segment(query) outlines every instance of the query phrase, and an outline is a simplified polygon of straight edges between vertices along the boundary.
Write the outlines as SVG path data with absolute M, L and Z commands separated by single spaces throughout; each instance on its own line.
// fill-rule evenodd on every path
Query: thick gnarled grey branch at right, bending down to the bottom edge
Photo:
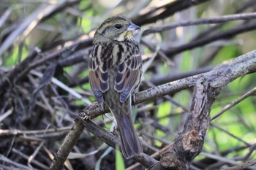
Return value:
M 210 121 L 211 105 L 219 91 L 229 82 L 256 71 L 256 51 L 242 55 L 229 63 L 217 66 L 197 80 L 192 104 L 184 130 L 176 137 L 173 147 L 167 150 L 151 170 L 188 169 L 203 148 L 203 139 Z

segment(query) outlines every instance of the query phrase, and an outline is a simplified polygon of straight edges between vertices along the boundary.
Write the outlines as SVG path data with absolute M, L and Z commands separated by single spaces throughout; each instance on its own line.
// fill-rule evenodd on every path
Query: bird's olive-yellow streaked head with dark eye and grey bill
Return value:
M 132 31 L 140 28 L 132 23 L 128 18 L 115 16 L 105 20 L 97 29 L 94 39 L 105 41 L 108 39 L 118 42 L 131 41 L 133 39 Z

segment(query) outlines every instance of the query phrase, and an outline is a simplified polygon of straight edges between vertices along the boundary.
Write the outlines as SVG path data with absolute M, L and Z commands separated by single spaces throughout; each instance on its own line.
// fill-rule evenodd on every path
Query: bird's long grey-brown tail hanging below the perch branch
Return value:
M 124 158 L 132 158 L 143 152 L 138 135 L 132 123 L 130 114 L 123 113 L 116 117 L 121 137 L 121 150 Z

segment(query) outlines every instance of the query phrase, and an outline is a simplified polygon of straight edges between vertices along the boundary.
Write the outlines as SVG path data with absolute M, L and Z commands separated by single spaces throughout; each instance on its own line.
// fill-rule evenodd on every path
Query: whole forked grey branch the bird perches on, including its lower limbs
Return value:
M 219 91 L 229 82 L 252 72 L 256 72 L 256 50 L 241 55 L 233 61 L 221 64 L 205 74 L 187 77 L 136 93 L 134 104 L 150 101 L 195 85 L 194 96 L 184 130 L 176 137 L 173 147 L 168 149 L 157 163 L 150 159 L 148 161 L 147 156 L 143 157 L 145 160 L 140 161 L 140 163 L 143 163 L 146 167 L 151 166 L 149 169 L 187 169 L 203 148 L 204 136 L 210 121 L 211 105 L 214 103 Z M 64 139 L 50 169 L 61 169 L 84 126 L 89 128 L 95 136 L 110 144 L 110 146 L 113 147 L 114 143 L 118 143 L 115 136 L 105 133 L 103 128 L 88 120 L 88 118 L 97 117 L 107 111 L 106 107 L 99 107 L 98 104 L 94 103 L 83 109 L 83 112 L 80 112 L 80 117 L 84 119 L 83 123 L 80 119 L 75 120 L 72 130 Z M 140 156 L 138 158 L 141 158 Z M 138 158 L 136 157 L 135 159 Z

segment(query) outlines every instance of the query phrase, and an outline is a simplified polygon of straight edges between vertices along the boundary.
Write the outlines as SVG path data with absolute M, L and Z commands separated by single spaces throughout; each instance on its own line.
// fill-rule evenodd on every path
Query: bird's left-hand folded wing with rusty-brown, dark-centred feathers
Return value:
M 108 69 L 107 63 L 99 64 L 97 53 L 95 55 L 94 49 L 89 58 L 89 82 L 91 90 L 94 92 L 94 96 L 99 104 L 103 104 L 103 93 L 109 89 L 108 83 Z

